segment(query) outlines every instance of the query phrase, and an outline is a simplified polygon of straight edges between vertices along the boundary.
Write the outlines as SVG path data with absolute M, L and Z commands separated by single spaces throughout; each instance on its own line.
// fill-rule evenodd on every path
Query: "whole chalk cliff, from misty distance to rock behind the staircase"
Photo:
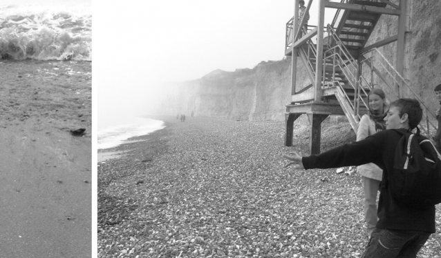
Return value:
M 441 1 L 409 2 L 404 79 L 426 105 L 435 110 L 438 101 L 433 88 L 441 83 Z M 366 46 L 395 34 L 397 17 L 383 15 Z M 393 66 L 396 46 L 394 42 L 379 48 Z M 303 64 L 298 60 L 297 90 L 309 84 Z M 187 117 L 194 112 L 196 116 L 237 120 L 284 119 L 285 106 L 290 103 L 290 85 L 290 57 L 262 61 L 252 69 L 214 70 L 193 81 L 168 83 L 164 86 L 167 94 L 160 97 L 160 104 L 155 103 L 149 110 L 160 115 L 185 114 Z

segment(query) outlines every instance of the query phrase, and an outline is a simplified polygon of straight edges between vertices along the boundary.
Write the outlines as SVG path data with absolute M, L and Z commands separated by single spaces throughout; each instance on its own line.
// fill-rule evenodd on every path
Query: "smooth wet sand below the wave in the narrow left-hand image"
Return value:
M 91 257 L 91 62 L 0 60 L 0 81 L 0 257 Z

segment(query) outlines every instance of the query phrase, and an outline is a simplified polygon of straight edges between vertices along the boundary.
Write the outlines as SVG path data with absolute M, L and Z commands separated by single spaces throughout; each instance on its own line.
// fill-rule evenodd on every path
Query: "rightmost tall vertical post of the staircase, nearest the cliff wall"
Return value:
M 400 10 L 401 15 L 398 17 L 398 39 L 397 39 L 397 59 L 395 63 L 395 67 L 397 69 L 398 74 L 403 76 L 403 68 L 404 68 L 404 43 L 406 37 L 406 13 L 407 13 L 407 0 L 400 0 Z M 397 81 L 400 81 L 400 77 L 397 76 L 395 78 Z M 400 86 L 396 86 L 398 97 L 402 97 L 402 92 L 400 91 Z

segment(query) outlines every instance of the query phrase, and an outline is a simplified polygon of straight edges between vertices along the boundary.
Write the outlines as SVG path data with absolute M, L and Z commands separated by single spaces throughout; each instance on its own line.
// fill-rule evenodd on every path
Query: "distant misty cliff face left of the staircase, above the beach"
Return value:
M 301 63 L 298 65 L 302 71 Z M 299 74 L 299 89 L 310 84 Z M 156 114 L 194 114 L 235 120 L 283 120 L 290 103 L 291 59 L 261 62 L 253 69 L 216 70 L 203 78 L 168 86 Z

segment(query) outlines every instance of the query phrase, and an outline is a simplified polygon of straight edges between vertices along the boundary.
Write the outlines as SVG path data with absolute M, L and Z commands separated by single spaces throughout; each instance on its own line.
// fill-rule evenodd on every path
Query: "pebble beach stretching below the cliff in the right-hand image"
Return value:
M 283 168 L 283 154 L 308 153 L 306 117 L 294 147 L 284 121 L 152 118 L 167 127 L 98 163 L 99 257 L 361 255 L 361 178 Z M 355 141 L 348 123 L 323 121 L 322 135 L 322 151 Z M 440 243 L 437 232 L 418 257 L 439 257 Z

